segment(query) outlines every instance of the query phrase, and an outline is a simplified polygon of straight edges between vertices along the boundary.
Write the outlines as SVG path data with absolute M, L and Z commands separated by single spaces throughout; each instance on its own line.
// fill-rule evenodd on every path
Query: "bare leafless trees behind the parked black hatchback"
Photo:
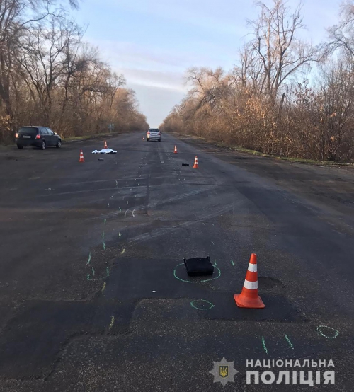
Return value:
M 83 38 L 67 4 L 0 1 L 0 143 L 23 125 L 63 137 L 148 127 L 124 76 Z

